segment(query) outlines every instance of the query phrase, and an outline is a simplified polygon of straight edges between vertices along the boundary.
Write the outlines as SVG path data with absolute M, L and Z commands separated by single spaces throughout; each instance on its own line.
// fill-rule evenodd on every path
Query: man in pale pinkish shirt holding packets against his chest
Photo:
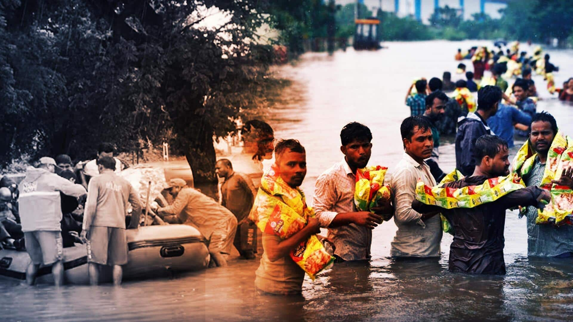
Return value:
M 372 229 L 382 223 L 383 217 L 379 214 L 390 212 L 390 205 L 376 209 L 379 214 L 356 211 L 356 170 L 366 167 L 370 160 L 372 133 L 366 125 L 352 122 L 344 125 L 340 140 L 344 159 L 316 179 L 316 218 L 321 227 L 328 228 L 328 238 L 335 245 L 336 262 L 368 260 Z

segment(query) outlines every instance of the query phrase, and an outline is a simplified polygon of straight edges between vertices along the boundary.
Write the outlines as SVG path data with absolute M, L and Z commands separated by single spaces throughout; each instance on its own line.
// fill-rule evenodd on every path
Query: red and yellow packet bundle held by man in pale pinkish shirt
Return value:
M 387 167 L 374 166 L 356 171 L 354 190 L 356 209 L 374 213 L 372 207 L 376 207 L 379 201 L 390 200 L 390 189 L 384 186 L 384 176 L 387 170 Z

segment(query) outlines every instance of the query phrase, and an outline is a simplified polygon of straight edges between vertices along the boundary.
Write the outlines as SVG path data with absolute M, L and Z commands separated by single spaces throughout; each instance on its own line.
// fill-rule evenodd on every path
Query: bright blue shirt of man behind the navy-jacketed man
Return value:
M 515 107 L 500 104 L 496 115 L 490 116 L 488 125 L 497 136 L 507 142 L 508 147 L 513 147 L 513 124 L 531 124 L 531 116 Z

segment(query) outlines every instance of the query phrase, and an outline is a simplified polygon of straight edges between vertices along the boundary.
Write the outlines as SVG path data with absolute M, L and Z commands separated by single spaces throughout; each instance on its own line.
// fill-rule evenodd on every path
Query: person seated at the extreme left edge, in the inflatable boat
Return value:
M 24 233 L 16 222 L 10 201 L 12 193 L 7 187 L 0 188 L 0 242 L 8 249 L 23 249 Z

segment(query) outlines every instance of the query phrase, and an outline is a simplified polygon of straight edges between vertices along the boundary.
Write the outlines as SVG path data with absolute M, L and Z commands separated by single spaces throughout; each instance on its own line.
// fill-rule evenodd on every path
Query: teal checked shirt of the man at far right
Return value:
M 543 172 L 545 172 L 545 164 L 536 159 L 531 172 L 523 178 L 525 184 L 528 187 L 539 186 Z M 528 256 L 553 257 L 573 252 L 573 226 L 536 225 L 537 209 L 535 207 L 527 207 L 525 216 L 527 216 Z

